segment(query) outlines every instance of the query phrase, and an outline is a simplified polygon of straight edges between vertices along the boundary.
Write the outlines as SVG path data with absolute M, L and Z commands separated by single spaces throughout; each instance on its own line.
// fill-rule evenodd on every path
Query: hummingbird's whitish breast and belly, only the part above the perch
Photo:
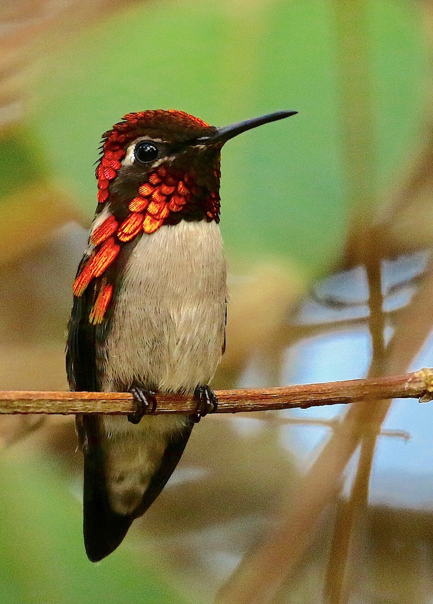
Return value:
M 133 382 L 191 392 L 221 359 L 226 265 L 215 222 L 162 226 L 128 259 L 100 367 L 102 390 Z

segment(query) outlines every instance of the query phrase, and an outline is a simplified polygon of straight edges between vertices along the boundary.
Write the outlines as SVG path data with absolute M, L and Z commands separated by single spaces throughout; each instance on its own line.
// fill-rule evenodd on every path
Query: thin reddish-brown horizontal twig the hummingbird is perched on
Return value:
M 264 411 L 354 403 L 377 399 L 433 400 L 433 369 L 390 377 L 368 377 L 344 382 L 308 384 L 285 388 L 217 390 L 218 413 Z M 194 413 L 192 396 L 158 394 L 155 413 Z M 130 393 L 0 391 L 0 414 L 73 413 L 128 414 L 135 410 Z

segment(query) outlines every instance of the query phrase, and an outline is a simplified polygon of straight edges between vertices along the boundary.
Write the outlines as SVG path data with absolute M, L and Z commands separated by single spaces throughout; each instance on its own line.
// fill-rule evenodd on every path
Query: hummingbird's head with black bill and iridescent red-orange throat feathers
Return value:
M 74 283 L 80 297 L 98 280 L 90 323 L 103 321 L 113 294 L 106 271 L 122 246 L 182 219 L 219 222 L 221 147 L 245 130 L 294 114 L 279 111 L 217 128 L 183 111 L 156 109 L 127 114 L 104 133 L 91 247 Z

